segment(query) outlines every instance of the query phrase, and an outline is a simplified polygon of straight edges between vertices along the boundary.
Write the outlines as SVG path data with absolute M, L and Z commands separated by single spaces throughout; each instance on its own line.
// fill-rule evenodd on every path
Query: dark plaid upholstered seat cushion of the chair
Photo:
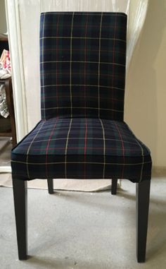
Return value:
M 11 153 L 13 179 L 151 179 L 151 154 L 124 121 L 47 119 Z

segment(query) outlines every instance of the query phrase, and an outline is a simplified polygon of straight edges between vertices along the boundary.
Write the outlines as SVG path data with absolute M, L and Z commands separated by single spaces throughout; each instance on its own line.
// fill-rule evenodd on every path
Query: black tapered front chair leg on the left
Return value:
M 18 258 L 27 259 L 27 181 L 13 179 Z

